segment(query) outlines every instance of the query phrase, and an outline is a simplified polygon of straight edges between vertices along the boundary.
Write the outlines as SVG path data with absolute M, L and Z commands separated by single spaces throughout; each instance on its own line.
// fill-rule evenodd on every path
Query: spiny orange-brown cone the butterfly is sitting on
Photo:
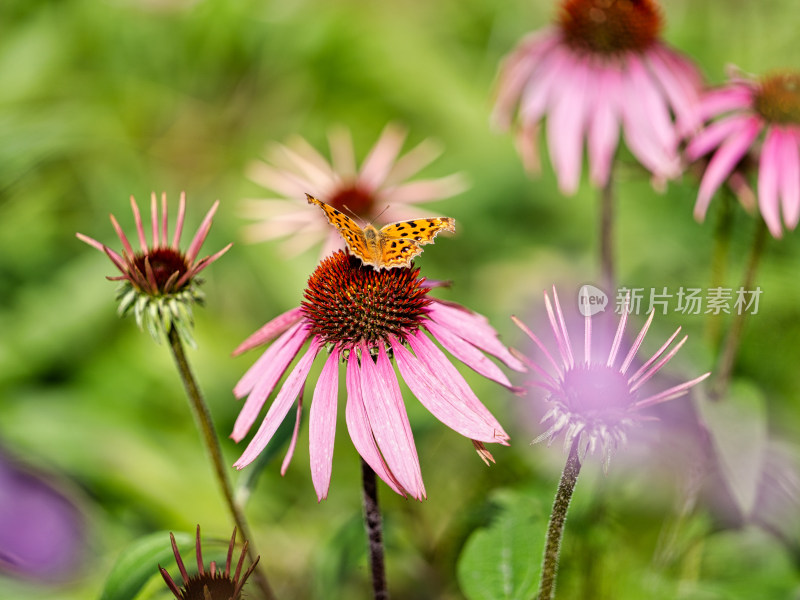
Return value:
M 366 341 L 404 340 L 416 331 L 431 299 L 419 269 L 376 271 L 343 251 L 324 259 L 308 280 L 303 311 L 325 343 L 352 348 Z

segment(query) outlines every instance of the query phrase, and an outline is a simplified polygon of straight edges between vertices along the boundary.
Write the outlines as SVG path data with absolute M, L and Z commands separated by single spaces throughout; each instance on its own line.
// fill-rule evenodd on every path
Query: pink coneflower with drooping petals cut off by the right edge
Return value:
M 800 73 L 759 81 L 737 75 L 702 98 L 697 118 L 714 120 L 686 148 L 690 160 L 713 152 L 695 218 L 705 218 L 717 188 L 751 152 L 758 157 L 758 206 L 770 232 L 781 237 L 781 215 L 794 229 L 800 219 Z

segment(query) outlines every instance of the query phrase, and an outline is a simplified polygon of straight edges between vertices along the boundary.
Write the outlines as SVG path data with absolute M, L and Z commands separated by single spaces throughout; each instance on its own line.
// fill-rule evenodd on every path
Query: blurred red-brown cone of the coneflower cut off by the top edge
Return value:
M 647 50 L 662 28 L 652 0 L 566 0 L 558 22 L 574 49 L 608 55 Z

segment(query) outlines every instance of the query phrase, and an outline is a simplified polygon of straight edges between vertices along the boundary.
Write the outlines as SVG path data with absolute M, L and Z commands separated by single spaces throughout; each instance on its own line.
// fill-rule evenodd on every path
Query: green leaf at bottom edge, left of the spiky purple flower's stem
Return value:
M 473 532 L 458 561 L 469 600 L 530 600 L 539 587 L 548 508 L 535 495 L 504 492 L 488 527 Z

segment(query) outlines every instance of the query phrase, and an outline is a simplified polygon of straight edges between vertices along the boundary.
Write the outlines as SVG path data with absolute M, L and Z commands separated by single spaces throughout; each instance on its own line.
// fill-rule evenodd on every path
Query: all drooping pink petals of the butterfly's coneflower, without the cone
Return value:
M 340 361 L 346 363 L 345 421 L 353 445 L 398 494 L 422 499 L 425 486 L 390 353 L 403 381 L 437 419 L 473 440 L 479 451 L 484 442 L 508 444 L 506 432 L 426 332 L 464 364 L 508 388 L 513 389 L 508 378 L 483 353 L 499 358 L 512 369 L 524 367 L 499 342 L 485 317 L 437 300 L 428 307 L 428 317 L 407 335 L 405 343 L 393 336 L 385 343 L 335 346 L 325 359 L 314 385 L 309 418 L 311 476 L 319 500 L 327 497 L 330 487 Z M 237 442 L 247 435 L 290 363 L 300 355 L 255 436 L 236 461 L 237 468 L 245 467 L 261 453 L 297 401 L 295 431 L 282 472 L 288 467 L 297 441 L 303 388 L 314 359 L 323 349 L 322 341 L 310 328 L 303 309 L 295 308 L 267 323 L 236 349 L 238 354 L 272 342 L 234 388 L 237 398 L 247 397 L 231 435 Z M 301 353 L 306 342 L 308 348 Z

